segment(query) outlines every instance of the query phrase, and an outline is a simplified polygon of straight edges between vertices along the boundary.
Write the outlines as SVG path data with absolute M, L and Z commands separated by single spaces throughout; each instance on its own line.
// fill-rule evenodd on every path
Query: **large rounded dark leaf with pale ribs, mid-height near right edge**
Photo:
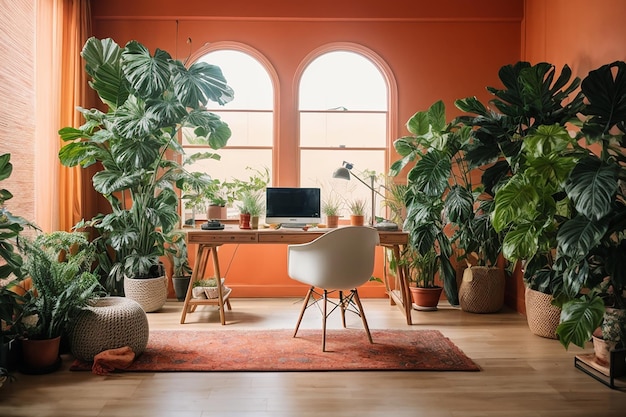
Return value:
M 576 210 L 599 220 L 612 208 L 618 187 L 619 166 L 605 163 L 596 156 L 578 162 L 565 184 L 565 191 Z

